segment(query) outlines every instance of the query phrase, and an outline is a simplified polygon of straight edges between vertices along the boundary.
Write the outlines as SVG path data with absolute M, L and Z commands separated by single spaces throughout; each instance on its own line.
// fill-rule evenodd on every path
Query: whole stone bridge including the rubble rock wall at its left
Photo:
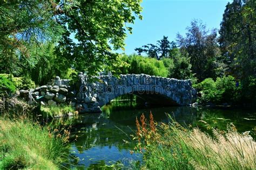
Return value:
M 196 97 L 190 80 L 126 74 L 95 76 L 89 82 L 83 73 L 78 74 L 78 79 L 70 86 L 69 80 L 57 76 L 53 86 L 33 89 L 32 96 L 43 98 L 41 103 L 49 105 L 66 102 L 81 112 L 100 112 L 103 105 L 124 94 L 134 94 L 148 104 L 157 105 L 188 105 Z

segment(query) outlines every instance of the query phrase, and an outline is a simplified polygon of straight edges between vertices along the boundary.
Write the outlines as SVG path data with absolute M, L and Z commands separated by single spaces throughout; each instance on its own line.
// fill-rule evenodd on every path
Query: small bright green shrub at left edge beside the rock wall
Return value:
M 9 95 L 16 90 L 15 83 L 12 81 L 12 77 L 6 74 L 0 74 L 0 94 Z

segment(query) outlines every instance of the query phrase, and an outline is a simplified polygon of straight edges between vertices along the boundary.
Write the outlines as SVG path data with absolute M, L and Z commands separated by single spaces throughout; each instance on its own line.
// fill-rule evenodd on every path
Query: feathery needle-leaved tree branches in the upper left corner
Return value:
M 58 40 L 62 26 L 56 23 L 54 13 L 50 1 L 0 2 L 1 73 L 21 74 L 23 66 L 33 65 L 31 48 Z

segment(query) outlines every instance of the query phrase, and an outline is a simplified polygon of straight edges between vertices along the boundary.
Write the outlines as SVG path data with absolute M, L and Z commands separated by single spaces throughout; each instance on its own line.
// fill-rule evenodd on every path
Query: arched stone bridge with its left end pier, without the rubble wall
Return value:
M 177 80 L 145 74 L 99 76 L 89 83 L 86 76 L 78 75 L 77 104 L 83 112 L 100 111 L 100 107 L 124 94 L 134 94 L 150 104 L 188 105 L 196 95 L 190 80 Z

